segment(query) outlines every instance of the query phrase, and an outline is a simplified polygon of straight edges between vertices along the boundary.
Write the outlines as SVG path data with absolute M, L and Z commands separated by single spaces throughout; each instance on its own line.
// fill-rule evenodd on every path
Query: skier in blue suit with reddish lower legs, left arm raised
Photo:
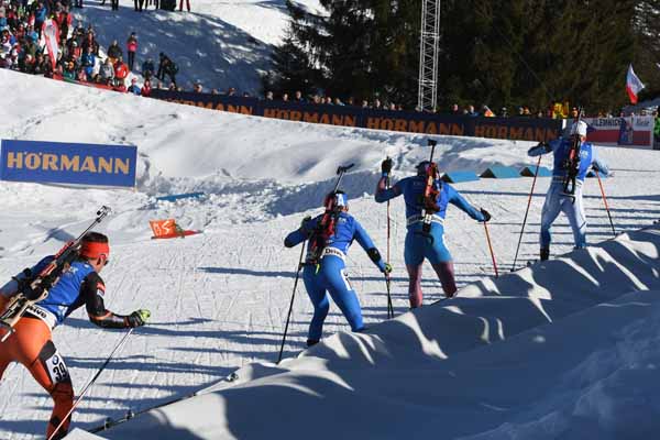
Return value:
M 387 177 L 392 170 L 392 160 L 383 161 L 381 165 L 383 176 L 378 180 L 375 195 L 378 204 L 400 195 L 404 196 L 406 201 L 408 231 L 406 233 L 404 258 L 409 278 L 408 297 L 410 308 L 417 308 L 422 302 L 421 266 L 425 258 L 428 258 L 438 278 L 440 278 L 444 295 L 452 297 L 457 293 L 453 261 L 443 239 L 444 216 L 447 215 L 448 205 L 452 204 L 459 207 L 474 220 L 488 221 L 491 219 L 491 215 L 486 210 L 477 210 L 453 187 L 438 178 L 433 180 L 433 187 L 439 191 L 436 199 L 437 212 L 432 215 L 429 233 L 425 233 L 422 231 L 424 194 L 427 186 L 427 169 L 430 164 L 429 161 L 421 162 L 417 166 L 416 176 L 406 177 L 397 182 L 392 188 L 386 188 Z

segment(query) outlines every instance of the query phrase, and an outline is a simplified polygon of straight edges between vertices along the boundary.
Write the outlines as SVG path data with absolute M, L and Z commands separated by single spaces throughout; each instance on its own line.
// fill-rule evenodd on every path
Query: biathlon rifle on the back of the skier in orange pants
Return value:
M 48 290 L 57 284 L 61 275 L 78 256 L 82 237 L 95 226 L 100 223 L 110 213 L 110 208 L 103 206 L 97 211 L 92 223 L 74 241 L 66 243 L 56 254 L 54 260 L 46 265 L 35 277 L 21 280 L 19 292 L 10 299 L 7 309 L 0 315 L 0 328 L 7 329 L 7 333 L 0 342 L 4 342 L 14 332 L 14 326 L 25 310 L 33 304 L 46 299 Z

